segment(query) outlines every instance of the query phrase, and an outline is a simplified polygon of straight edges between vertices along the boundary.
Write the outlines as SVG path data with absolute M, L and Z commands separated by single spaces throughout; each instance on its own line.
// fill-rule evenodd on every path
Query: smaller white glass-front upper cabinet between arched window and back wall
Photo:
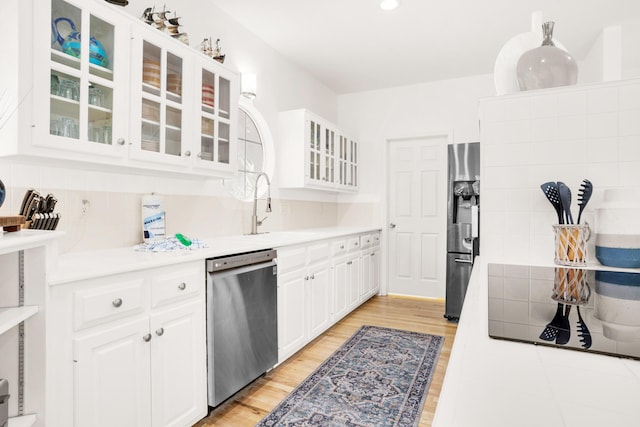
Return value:
M 357 143 L 307 110 L 279 114 L 279 183 L 284 188 L 355 191 Z

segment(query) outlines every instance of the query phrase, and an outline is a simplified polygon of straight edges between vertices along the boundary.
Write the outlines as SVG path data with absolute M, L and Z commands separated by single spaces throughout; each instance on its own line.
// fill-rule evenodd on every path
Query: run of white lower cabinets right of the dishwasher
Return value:
M 280 363 L 378 293 L 379 233 L 366 237 L 278 248 Z

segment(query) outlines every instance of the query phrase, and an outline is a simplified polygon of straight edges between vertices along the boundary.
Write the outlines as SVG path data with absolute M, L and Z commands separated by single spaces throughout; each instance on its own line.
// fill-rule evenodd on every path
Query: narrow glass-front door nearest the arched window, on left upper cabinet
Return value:
M 194 164 L 231 175 L 237 169 L 237 78 L 213 59 L 196 61 L 194 92 L 200 132 L 194 138 Z

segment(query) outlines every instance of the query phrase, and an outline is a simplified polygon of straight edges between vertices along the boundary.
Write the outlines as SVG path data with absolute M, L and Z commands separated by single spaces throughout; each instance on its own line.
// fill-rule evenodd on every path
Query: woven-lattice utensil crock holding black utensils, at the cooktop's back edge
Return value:
M 558 265 L 585 265 L 587 263 L 587 241 L 591 237 L 589 224 L 556 224 L 555 263 Z

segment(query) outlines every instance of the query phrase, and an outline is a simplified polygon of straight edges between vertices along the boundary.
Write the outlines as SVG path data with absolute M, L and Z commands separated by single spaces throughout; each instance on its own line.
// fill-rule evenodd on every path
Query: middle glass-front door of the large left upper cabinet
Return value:
M 152 28 L 134 34 L 131 157 L 187 165 L 191 156 L 189 52 Z

